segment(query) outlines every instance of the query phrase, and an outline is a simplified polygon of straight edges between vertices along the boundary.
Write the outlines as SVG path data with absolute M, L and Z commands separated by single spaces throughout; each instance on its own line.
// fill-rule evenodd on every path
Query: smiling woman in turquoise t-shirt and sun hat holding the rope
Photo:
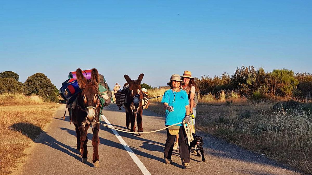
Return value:
M 183 80 L 181 80 L 180 75 L 173 74 L 168 83 L 171 88 L 163 94 L 161 102 L 166 109 L 166 126 L 182 122 L 183 120 L 188 123 L 190 120 L 188 94 L 181 89 L 181 82 L 183 82 Z M 173 152 L 173 143 L 177 134 L 179 135 L 179 152 L 183 168 L 190 169 L 190 152 L 188 150 L 186 134 L 182 124 L 167 129 L 167 140 L 163 153 L 164 161 L 167 164 L 172 164 L 171 156 Z

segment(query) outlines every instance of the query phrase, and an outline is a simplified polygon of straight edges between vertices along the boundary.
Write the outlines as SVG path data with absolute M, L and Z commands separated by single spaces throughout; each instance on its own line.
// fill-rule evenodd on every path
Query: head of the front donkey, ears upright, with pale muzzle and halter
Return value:
M 79 87 L 81 89 L 81 96 L 78 99 L 79 104 L 82 107 L 85 107 L 87 112 L 86 119 L 89 121 L 93 121 L 99 112 L 100 107 L 100 99 L 98 97 L 99 92 L 99 73 L 93 68 L 91 71 L 91 79 L 87 80 L 83 74 L 81 69 L 76 70 L 77 81 Z

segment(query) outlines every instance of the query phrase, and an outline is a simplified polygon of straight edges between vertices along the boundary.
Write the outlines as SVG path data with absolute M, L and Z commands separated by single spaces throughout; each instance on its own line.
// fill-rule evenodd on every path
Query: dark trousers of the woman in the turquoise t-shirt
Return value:
M 176 137 L 175 135 L 171 135 L 169 133 L 168 128 L 167 128 L 167 140 L 165 143 L 165 150 L 163 153 L 163 156 L 165 158 L 171 159 L 175 137 Z M 179 142 L 179 152 L 180 152 L 181 160 L 184 158 L 185 163 L 190 163 L 190 152 L 188 151 L 188 145 L 187 145 L 187 140 L 185 138 L 185 131 L 184 131 L 183 126 L 180 126 L 180 129 L 179 129 L 178 142 Z

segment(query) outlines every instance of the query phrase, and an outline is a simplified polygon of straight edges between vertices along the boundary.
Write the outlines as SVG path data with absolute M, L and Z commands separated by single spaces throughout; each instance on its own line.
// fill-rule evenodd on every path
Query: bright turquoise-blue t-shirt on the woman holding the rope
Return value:
M 175 94 L 175 102 L 173 102 Z M 173 106 L 173 112 L 169 112 L 166 110 L 166 122 L 165 125 L 173 125 L 182 120 L 185 117 L 185 106 L 188 106 L 188 94 L 181 90 L 180 92 L 173 92 L 171 89 L 167 90 L 163 94 L 163 99 L 161 100 L 162 103 L 168 103 L 169 106 Z M 182 126 L 179 124 L 178 126 Z

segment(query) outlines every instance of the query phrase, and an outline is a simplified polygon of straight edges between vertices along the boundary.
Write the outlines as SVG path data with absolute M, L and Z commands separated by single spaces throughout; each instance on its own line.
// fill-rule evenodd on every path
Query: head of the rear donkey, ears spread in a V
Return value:
M 143 79 L 144 74 L 141 73 L 137 80 L 131 80 L 128 75 L 124 75 L 127 83 L 129 84 L 129 95 L 133 99 L 134 107 L 139 107 L 140 97 L 143 96 L 141 92 L 141 81 Z

